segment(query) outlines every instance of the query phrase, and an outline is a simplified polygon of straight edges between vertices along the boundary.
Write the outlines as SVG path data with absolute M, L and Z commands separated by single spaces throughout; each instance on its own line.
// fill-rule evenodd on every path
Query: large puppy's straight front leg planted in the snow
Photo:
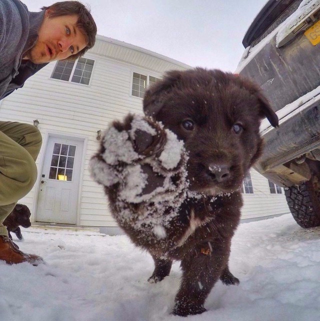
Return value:
M 204 301 L 227 263 L 227 258 L 223 255 L 202 252 L 201 249 L 196 254 L 193 253 L 181 261 L 181 286 L 175 296 L 173 308 L 173 314 L 180 316 L 206 311 Z

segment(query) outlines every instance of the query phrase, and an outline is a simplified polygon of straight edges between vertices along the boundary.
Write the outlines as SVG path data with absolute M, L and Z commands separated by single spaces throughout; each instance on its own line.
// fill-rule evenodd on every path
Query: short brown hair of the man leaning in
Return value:
M 90 10 L 87 9 L 84 5 L 82 5 L 78 1 L 63 1 L 57 2 L 49 7 L 42 7 L 41 10 L 48 10 L 48 17 L 54 18 L 59 16 L 69 16 L 76 15 L 78 16 L 78 20 L 76 22 L 76 28 L 83 34 L 86 47 L 80 50 L 75 55 L 68 57 L 65 60 L 74 61 L 77 58 L 84 55 L 84 53 L 93 47 L 96 36 L 96 25 L 90 14 Z

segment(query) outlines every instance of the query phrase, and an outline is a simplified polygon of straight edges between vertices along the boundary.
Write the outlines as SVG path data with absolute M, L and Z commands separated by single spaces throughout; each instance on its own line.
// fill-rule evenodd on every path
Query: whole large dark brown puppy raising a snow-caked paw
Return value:
M 105 132 L 92 177 L 119 226 L 152 255 L 150 282 L 181 261 L 173 313 L 201 313 L 218 279 L 239 282 L 228 259 L 242 180 L 262 151 L 261 119 L 277 126 L 277 117 L 250 81 L 200 68 L 168 72 L 147 90 L 143 110 Z

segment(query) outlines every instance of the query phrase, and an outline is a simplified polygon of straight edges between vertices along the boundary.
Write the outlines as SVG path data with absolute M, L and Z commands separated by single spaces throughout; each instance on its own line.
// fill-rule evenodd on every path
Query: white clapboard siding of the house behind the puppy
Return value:
M 91 156 L 98 148 L 96 131 L 104 130 L 127 113 L 142 113 L 142 99 L 131 96 L 132 73 L 160 78 L 165 71 L 189 66 L 110 38 L 98 36 L 85 58 L 94 60 L 89 86 L 51 79 L 55 63 L 47 65 L 19 89 L 0 101 L 0 119 L 32 124 L 39 121 L 43 146 L 37 159 L 41 172 L 48 135 L 63 134 L 84 140 L 83 172 L 79 186 L 77 224 L 116 227 L 106 196 L 88 171 Z M 251 173 L 254 194 L 244 194 L 243 218 L 287 212 L 283 194 L 271 195 L 267 180 Z M 258 176 L 259 175 L 259 176 Z M 32 190 L 20 202 L 29 206 L 34 220 L 40 174 Z

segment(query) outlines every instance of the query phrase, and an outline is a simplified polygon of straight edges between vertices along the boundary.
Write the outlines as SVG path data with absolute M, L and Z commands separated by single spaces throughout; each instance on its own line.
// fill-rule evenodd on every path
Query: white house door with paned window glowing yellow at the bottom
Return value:
M 83 141 L 49 137 L 40 178 L 37 222 L 76 224 Z

